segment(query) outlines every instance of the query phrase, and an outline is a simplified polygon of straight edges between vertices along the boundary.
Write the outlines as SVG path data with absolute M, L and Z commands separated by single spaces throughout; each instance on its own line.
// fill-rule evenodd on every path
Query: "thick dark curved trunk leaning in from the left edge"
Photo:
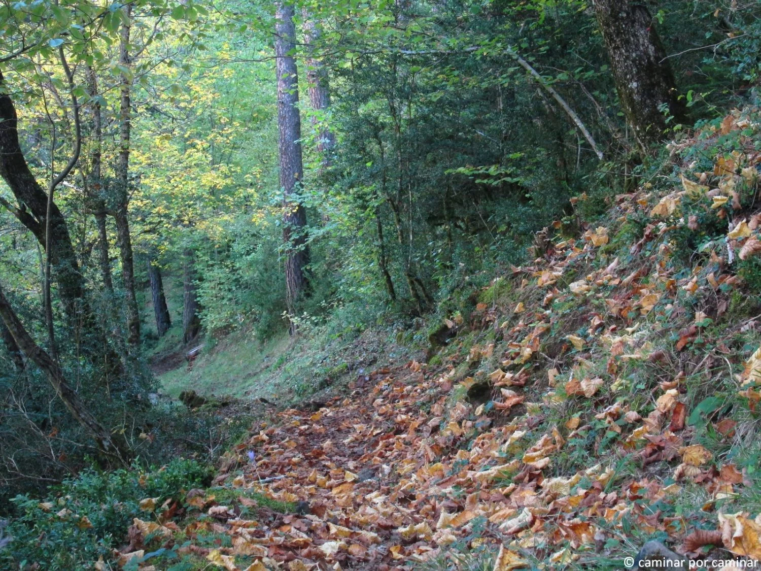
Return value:
M 18 143 L 18 116 L 0 73 L 0 177 L 10 187 L 19 207 L 4 206 L 34 234 L 45 247 L 45 228 L 50 228 L 50 263 L 55 270 L 56 282 L 64 310 L 70 321 L 76 321 L 80 310 L 87 311 L 84 302 L 84 279 L 68 234 L 66 221 L 55 203 L 47 220 L 48 196 L 29 170 L 21 145 Z

